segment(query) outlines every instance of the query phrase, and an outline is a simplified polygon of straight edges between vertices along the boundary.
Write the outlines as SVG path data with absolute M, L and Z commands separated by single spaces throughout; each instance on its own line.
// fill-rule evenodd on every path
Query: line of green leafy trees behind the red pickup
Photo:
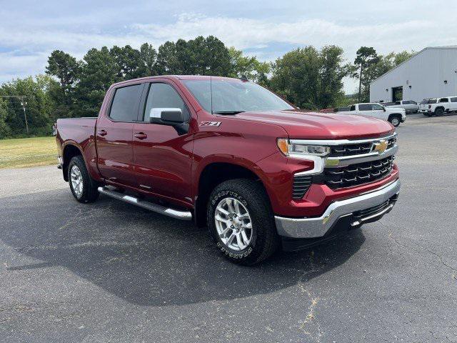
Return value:
M 338 46 L 320 50 L 306 46 L 270 64 L 227 47 L 214 36 L 166 41 L 158 49 L 148 43 L 139 49 L 104 46 L 90 49 L 81 60 L 56 50 L 49 56 L 45 74 L 0 86 L 0 139 L 26 135 L 21 99 L 1 96 L 26 96 L 30 134 L 42 136 L 50 134 L 58 118 L 96 116 L 106 89 L 114 82 L 163 74 L 246 76 L 303 109 L 338 106 L 348 99 L 344 77 L 361 80 L 363 99 L 372 79 L 409 56 L 406 51 L 378 56 L 373 49 L 365 57 L 364 51 L 360 53 L 363 60 L 357 59 L 358 51 L 354 64 L 346 64 Z

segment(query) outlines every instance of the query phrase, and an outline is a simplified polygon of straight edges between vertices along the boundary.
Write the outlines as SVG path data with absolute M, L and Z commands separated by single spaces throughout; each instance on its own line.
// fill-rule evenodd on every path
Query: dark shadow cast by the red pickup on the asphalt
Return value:
M 361 230 L 257 267 L 226 262 L 206 229 L 107 197 L 86 205 L 67 190 L 1 199 L 0 239 L 33 258 L 6 272 L 63 266 L 139 305 L 167 306 L 276 292 L 325 274 L 363 244 Z M 49 290 L 52 292 L 52 290 Z

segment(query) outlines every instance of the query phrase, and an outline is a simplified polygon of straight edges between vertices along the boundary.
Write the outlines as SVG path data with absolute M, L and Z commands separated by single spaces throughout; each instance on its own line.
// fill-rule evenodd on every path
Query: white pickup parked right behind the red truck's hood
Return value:
M 356 114 L 360 116 L 374 116 L 375 118 L 390 121 L 393 126 L 398 126 L 406 120 L 405 109 L 397 107 L 384 107 L 376 103 L 353 104 L 349 111 L 338 111 L 342 114 Z

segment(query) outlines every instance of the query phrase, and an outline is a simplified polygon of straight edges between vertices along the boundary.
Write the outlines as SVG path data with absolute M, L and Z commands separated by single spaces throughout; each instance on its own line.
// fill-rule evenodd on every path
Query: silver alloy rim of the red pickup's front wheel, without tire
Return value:
M 251 243 L 251 216 L 239 200 L 222 199 L 216 207 L 214 222 L 217 233 L 226 247 L 240 251 Z

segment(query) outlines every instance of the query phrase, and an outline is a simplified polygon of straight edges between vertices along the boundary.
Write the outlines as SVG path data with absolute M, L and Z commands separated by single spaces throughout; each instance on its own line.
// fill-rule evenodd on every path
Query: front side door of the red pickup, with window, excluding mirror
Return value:
M 173 126 L 153 124 L 149 115 L 158 109 L 181 109 L 190 121 L 189 106 L 172 84 L 146 85 L 139 122 L 134 124 L 134 163 L 137 187 L 156 195 L 191 203 L 191 165 L 194 142 Z

